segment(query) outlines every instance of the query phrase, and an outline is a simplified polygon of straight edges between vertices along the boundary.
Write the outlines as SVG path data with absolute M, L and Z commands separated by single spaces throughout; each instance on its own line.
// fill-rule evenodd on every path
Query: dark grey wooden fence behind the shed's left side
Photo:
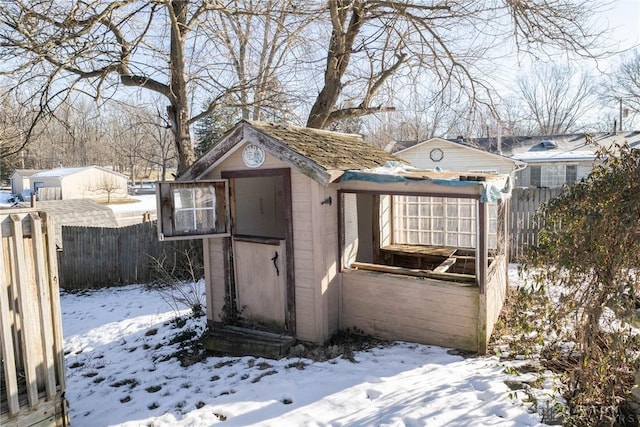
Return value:
M 202 265 L 202 240 L 158 241 L 155 222 L 121 228 L 62 227 L 60 286 L 88 289 L 148 283 L 154 259 L 166 256 L 168 270 L 180 269 L 184 251 Z

